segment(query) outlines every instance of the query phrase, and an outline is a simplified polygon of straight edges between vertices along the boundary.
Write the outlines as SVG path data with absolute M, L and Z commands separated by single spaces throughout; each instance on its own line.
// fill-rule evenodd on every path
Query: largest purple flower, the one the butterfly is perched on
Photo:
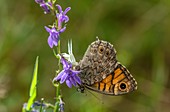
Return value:
M 61 58 L 61 62 L 63 64 L 63 70 L 56 76 L 53 81 L 60 81 L 60 83 L 66 82 L 69 88 L 72 85 L 76 86 L 77 83 L 81 84 L 80 77 L 77 76 L 80 71 L 72 70 L 72 64 L 68 63 L 63 57 Z

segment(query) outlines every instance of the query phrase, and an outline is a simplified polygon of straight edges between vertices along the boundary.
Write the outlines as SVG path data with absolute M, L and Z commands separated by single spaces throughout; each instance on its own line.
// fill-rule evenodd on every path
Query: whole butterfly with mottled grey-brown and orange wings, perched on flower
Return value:
M 79 91 L 85 88 L 106 94 L 122 95 L 137 89 L 137 82 L 130 72 L 116 59 L 116 50 L 107 41 L 92 42 L 83 59 L 76 66 L 82 84 Z

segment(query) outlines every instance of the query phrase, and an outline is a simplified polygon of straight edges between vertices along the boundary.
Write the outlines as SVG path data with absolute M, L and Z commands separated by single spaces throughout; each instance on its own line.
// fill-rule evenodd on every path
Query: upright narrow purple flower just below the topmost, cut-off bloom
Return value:
M 70 7 L 67 7 L 65 11 L 63 12 L 60 5 L 56 5 L 58 7 L 59 13 L 56 14 L 56 17 L 58 19 L 58 29 L 62 28 L 62 23 L 67 23 L 69 21 L 69 17 L 66 15 L 66 13 L 71 9 Z

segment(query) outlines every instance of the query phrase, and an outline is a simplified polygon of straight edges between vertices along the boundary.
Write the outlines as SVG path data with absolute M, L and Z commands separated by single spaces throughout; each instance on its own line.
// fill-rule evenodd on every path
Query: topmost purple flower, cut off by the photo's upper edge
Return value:
M 35 0 L 36 3 L 40 5 L 40 7 L 44 10 L 44 13 L 50 13 L 49 6 L 52 6 L 51 2 L 45 2 L 44 0 Z

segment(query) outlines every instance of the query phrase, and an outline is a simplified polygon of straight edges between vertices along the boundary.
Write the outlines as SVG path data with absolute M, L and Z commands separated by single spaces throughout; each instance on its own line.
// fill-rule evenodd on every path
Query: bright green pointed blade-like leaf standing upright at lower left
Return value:
M 32 104 L 34 103 L 34 99 L 36 98 L 37 95 L 37 73 L 38 73 L 38 56 L 36 58 L 35 66 L 34 66 L 34 72 L 33 72 L 33 78 L 32 78 L 32 83 L 31 83 L 31 88 L 30 88 L 30 93 L 29 93 L 29 100 L 27 103 L 26 110 L 30 111 Z

